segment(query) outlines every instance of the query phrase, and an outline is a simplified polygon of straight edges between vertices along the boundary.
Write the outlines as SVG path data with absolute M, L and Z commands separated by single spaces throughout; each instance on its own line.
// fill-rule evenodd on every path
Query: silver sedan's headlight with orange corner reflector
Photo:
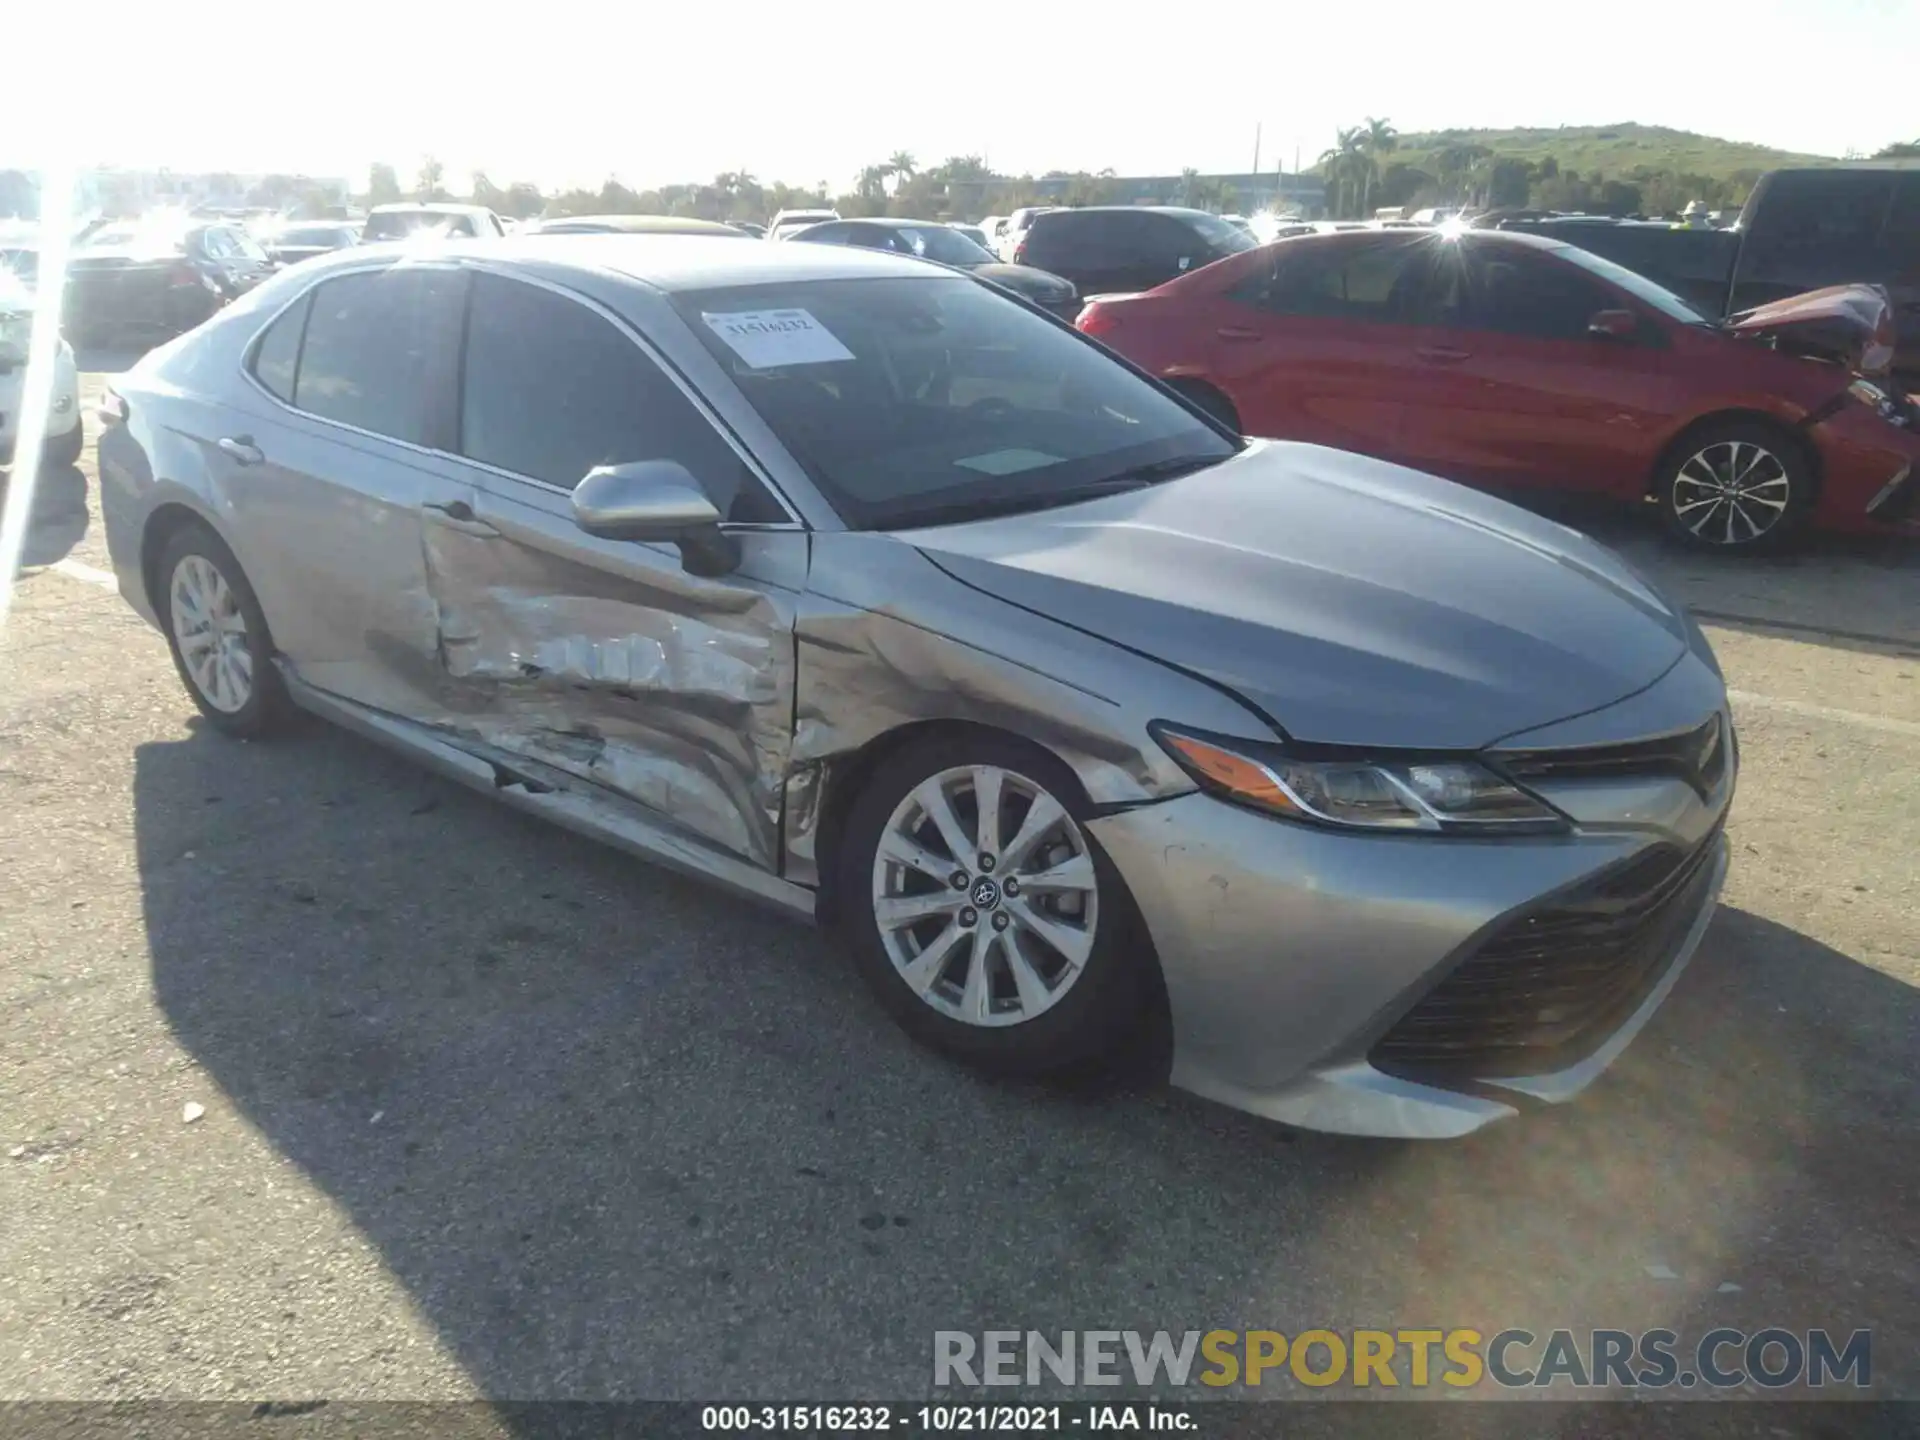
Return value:
M 1204 789 L 1288 820 L 1480 835 L 1567 829 L 1565 816 L 1478 760 L 1304 758 L 1171 726 L 1152 733 Z

